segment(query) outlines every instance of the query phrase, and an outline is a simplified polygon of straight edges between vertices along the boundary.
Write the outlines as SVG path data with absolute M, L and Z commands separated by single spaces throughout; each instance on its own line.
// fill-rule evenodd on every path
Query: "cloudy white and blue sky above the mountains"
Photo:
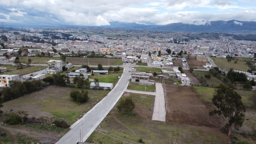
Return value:
M 4 25 L 107 26 L 256 21 L 256 0 L 0 0 Z

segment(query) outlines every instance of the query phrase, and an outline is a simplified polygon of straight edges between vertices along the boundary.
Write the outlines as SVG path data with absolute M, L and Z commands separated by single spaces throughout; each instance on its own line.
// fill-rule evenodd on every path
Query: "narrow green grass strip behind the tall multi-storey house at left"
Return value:
M 21 63 L 26 63 L 27 57 L 19 57 L 19 58 L 20 58 L 19 60 L 20 60 Z M 29 57 L 29 58 L 32 60 L 31 63 L 34 63 L 34 64 L 47 64 L 47 61 L 49 61 L 49 60 L 61 60 L 61 58 L 59 58 L 59 57 L 52 57 L 52 58 L 47 58 L 47 57 Z

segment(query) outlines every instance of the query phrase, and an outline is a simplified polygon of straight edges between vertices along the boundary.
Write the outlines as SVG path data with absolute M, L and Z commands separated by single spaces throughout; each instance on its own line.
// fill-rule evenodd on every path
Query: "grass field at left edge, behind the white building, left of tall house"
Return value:
M 16 66 L 16 68 L 17 68 L 17 66 Z M 46 69 L 47 66 L 41 66 L 40 68 L 41 68 L 41 70 L 43 70 L 43 69 Z M 37 71 L 39 71 L 39 66 L 26 66 L 26 67 L 23 67 L 22 69 L 15 69 L 15 70 L 11 70 L 9 72 L 3 72 L 1 74 L 3 74 L 3 75 L 26 75 L 26 74 L 37 72 Z

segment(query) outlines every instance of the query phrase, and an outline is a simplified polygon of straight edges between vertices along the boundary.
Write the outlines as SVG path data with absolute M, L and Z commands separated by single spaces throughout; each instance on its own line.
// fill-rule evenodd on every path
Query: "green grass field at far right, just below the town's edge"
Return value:
M 246 71 L 247 69 L 250 69 L 245 63 L 246 61 L 239 61 L 237 60 L 237 63 L 234 63 L 235 60 L 231 60 L 231 62 L 228 62 L 226 58 L 214 58 L 211 57 L 214 63 L 220 67 L 221 69 L 226 69 L 229 70 L 230 68 L 233 68 L 234 70 L 239 70 L 239 71 Z

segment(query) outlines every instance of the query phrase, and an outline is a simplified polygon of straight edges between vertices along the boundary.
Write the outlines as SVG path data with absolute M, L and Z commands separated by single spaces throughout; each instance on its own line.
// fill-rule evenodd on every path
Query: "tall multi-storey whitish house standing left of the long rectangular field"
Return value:
M 47 61 L 48 68 L 44 70 L 45 74 L 57 74 L 62 72 L 62 60 Z

